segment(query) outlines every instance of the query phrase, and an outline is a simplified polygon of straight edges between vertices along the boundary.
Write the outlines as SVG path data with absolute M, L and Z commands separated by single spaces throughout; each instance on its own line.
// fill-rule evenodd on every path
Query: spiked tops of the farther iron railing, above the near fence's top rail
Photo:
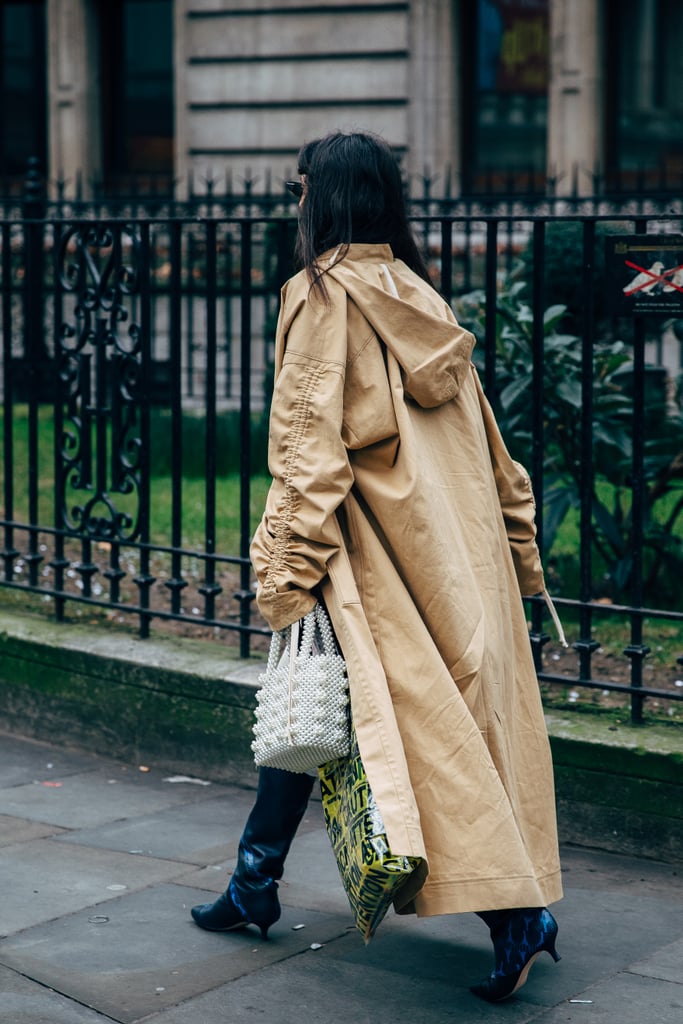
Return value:
M 295 176 L 292 168 L 289 177 Z M 466 189 L 449 167 L 425 168 L 404 175 L 409 207 L 416 216 L 509 216 L 566 214 L 623 214 L 667 216 L 683 213 L 683 170 L 658 168 L 605 173 L 573 166 L 568 175 L 539 174 L 520 168 L 487 170 L 476 187 Z M 24 177 L 0 178 L 0 211 L 4 217 L 25 215 L 26 204 L 42 216 L 279 216 L 294 214 L 296 201 L 280 180 L 266 171 L 254 175 L 207 173 L 186 181 L 168 175 L 131 175 L 104 184 L 75 180 L 46 180 L 40 161 L 31 158 Z M 29 213 L 33 216 L 34 214 Z

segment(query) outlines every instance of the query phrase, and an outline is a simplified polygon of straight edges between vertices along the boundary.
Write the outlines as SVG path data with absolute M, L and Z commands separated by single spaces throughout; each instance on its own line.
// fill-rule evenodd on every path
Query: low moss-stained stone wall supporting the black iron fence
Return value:
M 255 785 L 261 667 L 226 640 L 138 640 L 0 610 L 0 730 Z M 547 721 L 561 840 L 681 860 L 680 726 L 613 731 L 579 713 Z

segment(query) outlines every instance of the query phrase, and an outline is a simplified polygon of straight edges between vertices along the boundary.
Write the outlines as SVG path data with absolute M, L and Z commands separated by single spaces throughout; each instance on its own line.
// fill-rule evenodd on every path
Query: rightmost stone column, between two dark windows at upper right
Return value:
M 604 61 L 600 0 L 551 0 L 548 175 L 557 191 L 593 190 L 604 168 Z

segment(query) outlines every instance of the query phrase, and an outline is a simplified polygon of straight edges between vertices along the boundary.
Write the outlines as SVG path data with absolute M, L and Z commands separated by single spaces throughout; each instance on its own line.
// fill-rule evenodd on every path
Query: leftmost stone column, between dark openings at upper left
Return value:
M 85 197 L 101 172 L 98 33 L 92 0 L 47 0 L 49 168 Z

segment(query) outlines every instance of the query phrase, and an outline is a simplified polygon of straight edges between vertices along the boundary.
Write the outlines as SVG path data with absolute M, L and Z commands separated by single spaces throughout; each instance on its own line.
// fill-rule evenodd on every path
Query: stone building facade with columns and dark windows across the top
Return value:
M 0 176 L 255 191 L 380 132 L 434 195 L 683 183 L 680 0 L 5 0 Z

